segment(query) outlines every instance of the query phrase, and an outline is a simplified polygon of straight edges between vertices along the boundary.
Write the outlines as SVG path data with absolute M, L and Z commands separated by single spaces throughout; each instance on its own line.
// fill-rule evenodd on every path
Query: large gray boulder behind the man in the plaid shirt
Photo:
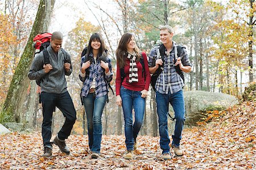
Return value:
M 238 99 L 229 94 L 205 92 L 200 90 L 184 92 L 186 125 L 196 125 L 206 111 L 226 110 L 236 105 Z

